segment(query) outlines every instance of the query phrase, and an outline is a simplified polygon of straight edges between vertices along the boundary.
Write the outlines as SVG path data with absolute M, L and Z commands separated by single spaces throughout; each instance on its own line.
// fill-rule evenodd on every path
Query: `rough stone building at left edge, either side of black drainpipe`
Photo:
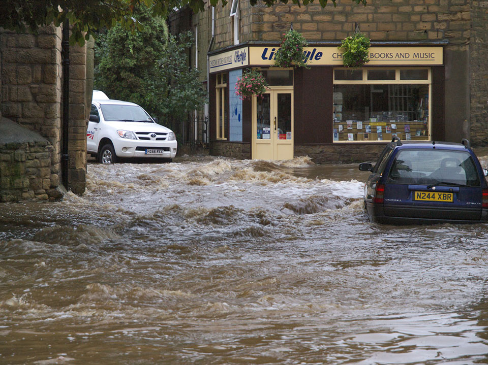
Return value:
M 0 30 L 0 202 L 60 197 L 62 182 L 62 29 L 38 35 Z M 87 48 L 71 46 L 68 189 L 82 193 L 86 171 Z

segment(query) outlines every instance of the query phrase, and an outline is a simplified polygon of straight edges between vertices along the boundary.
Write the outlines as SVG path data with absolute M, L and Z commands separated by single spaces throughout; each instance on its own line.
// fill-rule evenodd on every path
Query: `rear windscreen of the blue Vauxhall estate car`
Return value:
M 441 149 L 399 151 L 388 182 L 480 186 L 476 166 L 468 152 Z

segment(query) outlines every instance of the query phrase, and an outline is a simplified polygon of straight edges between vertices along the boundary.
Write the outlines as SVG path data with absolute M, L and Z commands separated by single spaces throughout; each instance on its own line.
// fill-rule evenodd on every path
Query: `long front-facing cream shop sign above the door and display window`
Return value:
M 276 51 L 279 47 L 249 47 L 250 64 L 267 66 L 275 63 Z M 343 53 L 337 46 L 306 47 L 303 57 L 307 64 L 333 65 L 343 64 Z M 443 64 L 441 46 L 425 47 L 371 47 L 370 61 L 365 65 L 441 65 Z

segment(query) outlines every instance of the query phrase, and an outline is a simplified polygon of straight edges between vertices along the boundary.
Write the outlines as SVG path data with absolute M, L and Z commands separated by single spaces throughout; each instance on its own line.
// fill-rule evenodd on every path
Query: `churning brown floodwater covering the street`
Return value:
M 87 174 L 0 205 L 2 365 L 488 363 L 486 224 L 369 223 L 303 157 Z

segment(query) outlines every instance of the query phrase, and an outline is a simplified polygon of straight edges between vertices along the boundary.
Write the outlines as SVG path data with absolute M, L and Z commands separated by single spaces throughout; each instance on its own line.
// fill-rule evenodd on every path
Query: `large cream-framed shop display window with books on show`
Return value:
M 333 142 L 430 139 L 430 69 L 334 69 L 333 83 Z

